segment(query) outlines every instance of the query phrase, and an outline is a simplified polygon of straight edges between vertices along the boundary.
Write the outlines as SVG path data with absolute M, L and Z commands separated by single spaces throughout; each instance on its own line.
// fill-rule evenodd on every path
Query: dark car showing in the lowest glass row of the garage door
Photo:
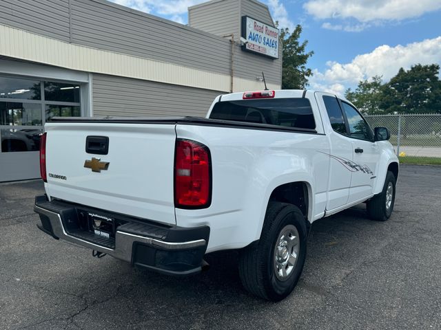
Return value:
M 41 129 L 0 129 L 1 152 L 39 151 Z

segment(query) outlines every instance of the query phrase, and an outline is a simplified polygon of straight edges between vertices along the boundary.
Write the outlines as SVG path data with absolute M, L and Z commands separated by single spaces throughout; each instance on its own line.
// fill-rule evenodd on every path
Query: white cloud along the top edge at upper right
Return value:
M 409 19 L 441 9 L 440 0 L 309 0 L 303 5 L 317 19 L 360 22 Z

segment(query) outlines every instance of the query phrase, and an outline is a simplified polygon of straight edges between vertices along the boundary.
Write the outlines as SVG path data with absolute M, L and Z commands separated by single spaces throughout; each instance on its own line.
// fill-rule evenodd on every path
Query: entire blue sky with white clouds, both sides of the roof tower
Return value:
M 111 0 L 178 23 L 187 8 L 204 0 Z M 302 39 L 314 51 L 310 87 L 343 94 L 358 81 L 400 67 L 441 65 L 441 0 L 261 0 L 274 21 L 291 30 L 302 25 Z

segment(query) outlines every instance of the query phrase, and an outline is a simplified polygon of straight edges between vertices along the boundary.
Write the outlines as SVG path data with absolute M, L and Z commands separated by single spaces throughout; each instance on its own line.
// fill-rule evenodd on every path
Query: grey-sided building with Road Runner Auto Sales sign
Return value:
M 181 25 L 105 0 L 0 0 L 0 181 L 39 177 L 52 116 L 205 115 L 230 91 L 281 85 L 266 5 L 213 0 Z

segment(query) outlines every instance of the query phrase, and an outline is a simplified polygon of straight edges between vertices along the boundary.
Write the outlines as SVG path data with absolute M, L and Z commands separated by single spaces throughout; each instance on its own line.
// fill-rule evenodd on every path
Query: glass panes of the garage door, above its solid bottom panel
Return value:
M 81 85 L 0 76 L 0 153 L 38 151 L 54 116 L 81 116 Z

